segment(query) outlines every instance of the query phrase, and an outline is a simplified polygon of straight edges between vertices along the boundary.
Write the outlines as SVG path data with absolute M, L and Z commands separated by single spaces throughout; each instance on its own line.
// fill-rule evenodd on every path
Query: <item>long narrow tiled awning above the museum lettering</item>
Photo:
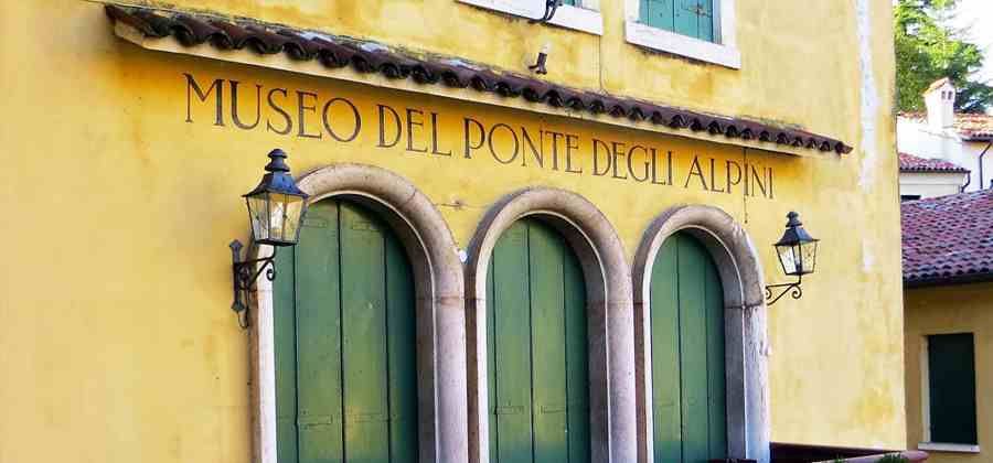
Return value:
M 714 136 L 836 153 L 852 151 L 852 147 L 841 140 L 797 128 L 564 87 L 461 58 L 418 55 L 375 42 L 254 20 L 228 20 L 142 7 L 107 3 L 105 10 L 111 21 L 127 24 L 148 39 L 172 36 L 183 46 L 207 43 L 220 50 L 246 49 L 264 55 L 284 53 L 301 62 L 318 61 L 332 69 L 351 66 L 361 73 L 378 73 L 393 79 L 409 78 L 421 85 L 472 88 L 506 98 L 523 97 L 528 101 L 577 111 L 648 120 L 672 129 L 707 131 Z

